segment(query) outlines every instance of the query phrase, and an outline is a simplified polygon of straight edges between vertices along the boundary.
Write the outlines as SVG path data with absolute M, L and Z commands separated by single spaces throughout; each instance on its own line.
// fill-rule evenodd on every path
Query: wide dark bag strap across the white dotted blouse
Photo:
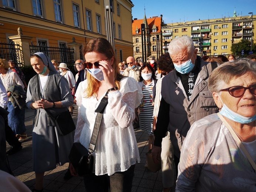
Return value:
M 95 112 L 97 113 L 97 116 L 96 116 L 93 131 L 92 131 L 91 141 L 90 141 L 90 144 L 88 147 L 88 150 L 91 154 L 95 150 L 95 147 L 96 147 L 96 142 L 97 142 L 97 138 L 99 135 L 99 128 L 100 128 L 101 120 L 103 117 L 103 112 L 107 106 L 107 99 L 108 99 L 108 97 L 107 97 L 107 92 L 106 92 L 106 95 L 102 98 L 99 106 L 95 110 Z

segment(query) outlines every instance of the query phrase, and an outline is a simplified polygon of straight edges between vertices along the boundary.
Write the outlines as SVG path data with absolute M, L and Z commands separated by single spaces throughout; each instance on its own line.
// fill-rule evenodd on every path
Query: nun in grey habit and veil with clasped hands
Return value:
M 68 155 L 74 141 L 74 133 L 60 136 L 53 117 L 67 111 L 74 104 L 67 80 L 59 75 L 50 58 L 37 52 L 30 58 L 30 63 L 37 72 L 28 83 L 26 105 L 35 109 L 33 128 L 33 171 L 35 171 L 34 191 L 42 191 L 45 171 L 56 168 L 56 164 L 69 162 Z M 38 87 L 38 79 L 40 87 Z M 38 95 L 40 90 L 40 98 Z

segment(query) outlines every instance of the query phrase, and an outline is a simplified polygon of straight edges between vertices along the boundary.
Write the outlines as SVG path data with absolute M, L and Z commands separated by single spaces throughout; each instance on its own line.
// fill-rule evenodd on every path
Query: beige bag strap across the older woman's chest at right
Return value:
M 217 113 L 219 116 L 219 119 L 222 120 L 222 122 L 225 124 L 225 126 L 228 128 L 229 132 L 231 133 L 233 139 L 238 143 L 238 147 L 239 149 L 241 149 L 243 151 L 243 153 L 245 154 L 245 156 L 247 157 L 247 159 L 249 160 L 250 164 L 252 165 L 252 168 L 254 169 L 254 171 L 256 170 L 256 164 L 253 161 L 252 157 L 250 156 L 249 152 L 246 150 L 245 146 L 243 145 L 243 143 L 241 142 L 241 140 L 238 138 L 238 136 L 236 135 L 235 131 L 232 129 L 232 127 L 228 124 L 228 122 L 226 121 L 226 119 L 222 116 L 222 114 Z

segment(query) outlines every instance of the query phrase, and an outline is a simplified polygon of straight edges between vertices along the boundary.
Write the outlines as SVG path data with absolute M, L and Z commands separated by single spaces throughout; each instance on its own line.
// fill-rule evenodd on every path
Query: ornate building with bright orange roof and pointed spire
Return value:
M 141 37 L 141 24 L 145 25 L 145 38 Z M 162 55 L 162 15 L 161 17 L 146 18 L 146 14 L 143 19 L 138 20 L 134 18 L 132 21 L 132 37 L 133 37 L 133 56 L 136 62 L 142 61 L 142 54 L 145 52 L 146 47 L 146 59 L 149 61 L 149 56 Z M 143 40 L 143 44 L 142 44 Z M 146 43 L 146 46 L 144 44 Z

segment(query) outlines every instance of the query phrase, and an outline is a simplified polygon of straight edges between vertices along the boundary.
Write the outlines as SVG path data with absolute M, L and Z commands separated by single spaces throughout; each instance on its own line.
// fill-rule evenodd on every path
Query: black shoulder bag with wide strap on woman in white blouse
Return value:
M 78 174 L 79 176 L 84 176 L 92 173 L 94 162 L 92 152 L 95 150 L 96 147 L 103 112 L 107 105 L 107 99 L 108 97 L 106 93 L 106 95 L 100 101 L 99 106 L 95 110 L 97 116 L 92 131 L 92 138 L 88 147 L 89 151 L 85 147 L 83 147 L 81 143 L 74 143 L 68 156 L 70 162 L 76 170 L 76 174 Z

